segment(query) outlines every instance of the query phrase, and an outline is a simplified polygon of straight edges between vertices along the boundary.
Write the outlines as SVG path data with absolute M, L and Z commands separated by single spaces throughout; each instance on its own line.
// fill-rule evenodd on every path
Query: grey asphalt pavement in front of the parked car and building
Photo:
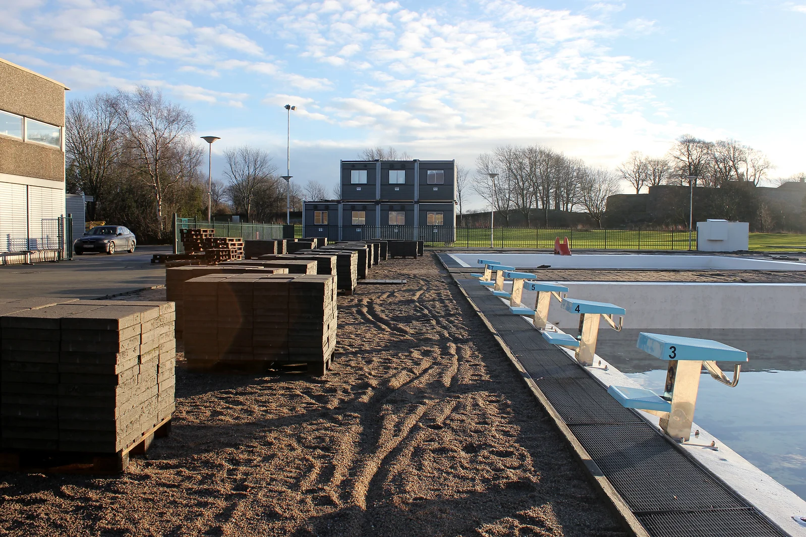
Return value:
M 0 298 L 98 298 L 165 284 L 165 265 L 151 264 L 152 254 L 170 246 L 143 246 L 112 256 L 86 253 L 72 261 L 0 266 Z

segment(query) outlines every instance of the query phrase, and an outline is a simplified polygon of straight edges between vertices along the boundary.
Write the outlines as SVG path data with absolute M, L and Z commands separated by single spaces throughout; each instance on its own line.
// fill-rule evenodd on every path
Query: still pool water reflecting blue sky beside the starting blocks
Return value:
M 715 339 L 748 352 L 735 388 L 700 379 L 694 421 L 806 500 L 806 333 L 800 330 L 644 330 Z M 638 330 L 600 331 L 596 353 L 655 393 L 666 362 L 638 350 Z M 721 363 L 728 377 L 733 364 Z

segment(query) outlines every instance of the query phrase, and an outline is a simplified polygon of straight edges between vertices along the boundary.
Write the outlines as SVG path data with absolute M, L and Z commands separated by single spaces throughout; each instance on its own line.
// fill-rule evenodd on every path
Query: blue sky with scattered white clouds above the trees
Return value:
M 287 103 L 293 181 L 329 189 L 377 145 L 473 169 L 548 144 L 614 167 L 685 133 L 806 171 L 803 0 L 0 0 L 0 21 L 0 57 L 68 100 L 143 84 L 188 108 L 221 137 L 214 178 L 241 144 L 285 173 Z

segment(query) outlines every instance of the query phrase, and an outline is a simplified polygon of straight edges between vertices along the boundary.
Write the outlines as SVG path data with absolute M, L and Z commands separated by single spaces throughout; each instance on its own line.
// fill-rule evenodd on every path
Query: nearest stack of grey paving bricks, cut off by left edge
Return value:
M 174 410 L 173 304 L 65 302 L 0 317 L 0 445 L 122 453 Z

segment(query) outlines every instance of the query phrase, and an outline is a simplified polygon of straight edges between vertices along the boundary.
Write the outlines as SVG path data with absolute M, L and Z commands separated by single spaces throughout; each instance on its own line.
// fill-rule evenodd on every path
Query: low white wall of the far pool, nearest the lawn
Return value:
M 480 267 L 480 259 L 492 259 L 516 269 L 536 269 L 544 264 L 552 269 L 631 269 L 631 270 L 806 270 L 806 263 L 740 256 L 708 256 L 699 254 L 449 254 L 465 268 Z

